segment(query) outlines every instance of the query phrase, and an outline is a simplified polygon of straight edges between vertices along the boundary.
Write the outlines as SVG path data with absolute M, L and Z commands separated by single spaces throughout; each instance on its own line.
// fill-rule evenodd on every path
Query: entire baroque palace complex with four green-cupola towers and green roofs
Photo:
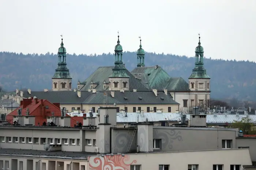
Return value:
M 181 77 L 170 77 L 161 66 L 145 66 L 145 51 L 140 39 L 137 67 L 131 72 L 123 63 L 123 47 L 118 35 L 114 47 L 114 66 L 98 67 L 86 80 L 72 88 L 72 77 L 66 63 L 63 39 L 58 50 L 58 66 L 52 77 L 52 90 L 42 92 L 28 89 L 22 98 L 36 96 L 52 103 L 60 103 L 67 110 L 89 110 L 102 105 L 115 105 L 117 112 L 177 112 L 189 111 L 193 106 L 208 107 L 210 77 L 203 66 L 204 50 L 199 43 L 195 50 L 195 68 L 186 82 Z

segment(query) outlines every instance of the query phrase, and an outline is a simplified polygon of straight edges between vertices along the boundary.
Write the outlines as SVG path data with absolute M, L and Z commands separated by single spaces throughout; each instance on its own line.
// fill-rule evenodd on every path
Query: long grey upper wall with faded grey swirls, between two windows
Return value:
M 161 139 L 163 152 L 221 149 L 222 140 L 232 140 L 236 148 L 236 129 L 153 127 L 153 139 Z

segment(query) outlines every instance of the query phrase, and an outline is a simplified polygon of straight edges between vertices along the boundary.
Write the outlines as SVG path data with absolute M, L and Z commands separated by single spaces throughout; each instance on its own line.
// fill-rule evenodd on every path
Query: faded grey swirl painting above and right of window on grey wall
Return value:
M 182 141 L 181 132 L 177 130 L 157 130 L 153 129 L 154 139 L 162 139 L 162 149 L 168 147 L 169 149 L 173 148 L 173 141 L 178 140 Z

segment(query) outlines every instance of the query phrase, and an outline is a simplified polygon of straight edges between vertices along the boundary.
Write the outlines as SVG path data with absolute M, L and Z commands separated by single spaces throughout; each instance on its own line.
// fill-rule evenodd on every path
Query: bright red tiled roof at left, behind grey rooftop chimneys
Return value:
M 42 125 L 44 121 L 46 122 L 46 117 L 52 116 L 52 112 L 54 112 L 54 116 L 61 116 L 60 108 L 50 103 L 48 100 L 26 99 L 25 102 L 23 101 L 20 104 L 20 108 L 22 108 L 22 115 L 26 115 L 27 108 L 29 108 L 29 115 L 35 116 L 35 125 L 38 125 L 38 123 L 39 125 Z M 48 108 L 45 108 L 45 106 L 48 106 Z M 13 116 L 18 115 L 18 109 L 19 108 L 15 109 L 13 112 L 6 116 L 6 120 L 9 123 L 13 123 Z

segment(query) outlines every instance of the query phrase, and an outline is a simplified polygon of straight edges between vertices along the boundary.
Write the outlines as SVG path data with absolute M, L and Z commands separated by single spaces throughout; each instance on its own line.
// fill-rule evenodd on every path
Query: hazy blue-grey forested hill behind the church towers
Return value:
M 136 53 L 125 52 L 125 66 L 132 70 L 137 65 Z M 27 54 L 0 52 L 0 86 L 3 90 L 31 88 L 51 89 L 51 78 L 57 68 L 58 57 L 53 54 Z M 172 77 L 188 81 L 195 58 L 172 54 L 146 53 L 146 66 L 158 64 Z M 99 66 L 113 66 L 114 55 L 67 55 L 67 67 L 73 77 L 73 87 L 78 79 L 85 80 Z M 204 67 L 211 77 L 211 97 L 246 99 L 256 101 L 256 63 L 249 61 L 224 61 L 204 59 Z

